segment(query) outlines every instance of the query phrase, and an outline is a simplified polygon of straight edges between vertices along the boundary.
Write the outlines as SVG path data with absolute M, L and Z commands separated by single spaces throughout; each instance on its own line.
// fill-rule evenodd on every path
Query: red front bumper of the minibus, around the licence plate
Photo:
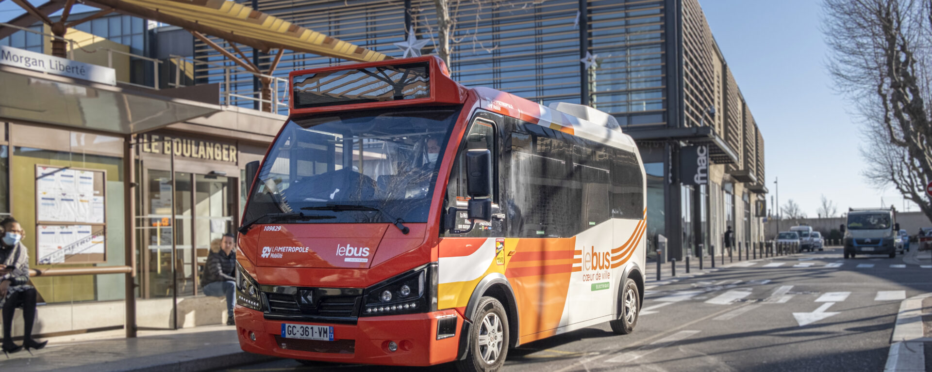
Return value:
M 281 358 L 369 365 L 438 365 L 459 352 L 463 319 L 453 309 L 402 315 L 359 317 L 355 325 L 267 320 L 262 312 L 235 310 L 237 337 L 245 352 Z M 437 339 L 438 319 L 456 317 L 456 334 Z M 281 338 L 281 324 L 333 326 L 334 340 Z M 253 340 L 253 336 L 255 340 Z M 394 341 L 397 350 L 391 352 Z

